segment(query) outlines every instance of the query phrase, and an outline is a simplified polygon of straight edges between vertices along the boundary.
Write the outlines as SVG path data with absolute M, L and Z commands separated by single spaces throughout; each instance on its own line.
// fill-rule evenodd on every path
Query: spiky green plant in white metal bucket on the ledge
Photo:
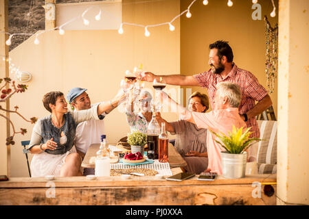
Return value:
M 221 151 L 222 176 L 229 179 L 244 177 L 247 164 L 247 149 L 260 138 L 250 138 L 251 127 L 242 131 L 243 127 L 236 129 L 233 126 L 228 135 L 220 132 L 214 133 L 220 141 L 216 140 L 226 151 Z

